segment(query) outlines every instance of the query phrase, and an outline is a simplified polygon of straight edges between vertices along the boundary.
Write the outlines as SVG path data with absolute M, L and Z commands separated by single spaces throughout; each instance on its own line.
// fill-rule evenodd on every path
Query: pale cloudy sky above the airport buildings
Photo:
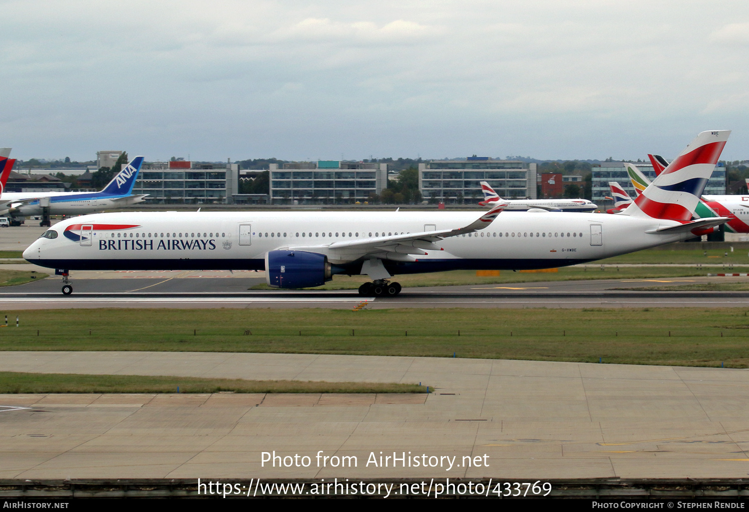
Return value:
M 21 159 L 749 159 L 749 2 L 1 1 Z

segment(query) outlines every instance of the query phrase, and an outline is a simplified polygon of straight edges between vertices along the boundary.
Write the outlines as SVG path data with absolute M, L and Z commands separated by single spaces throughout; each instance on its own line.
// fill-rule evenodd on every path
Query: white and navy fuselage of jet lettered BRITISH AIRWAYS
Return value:
M 59 222 L 26 260 L 57 269 L 264 269 L 276 249 L 319 252 L 337 273 L 359 274 L 362 259 L 330 243 L 461 228 L 475 212 L 100 213 Z M 595 213 L 502 213 L 486 228 L 449 237 L 413 260 L 379 255 L 392 274 L 443 269 L 567 266 L 685 240 L 647 234 L 678 222 Z

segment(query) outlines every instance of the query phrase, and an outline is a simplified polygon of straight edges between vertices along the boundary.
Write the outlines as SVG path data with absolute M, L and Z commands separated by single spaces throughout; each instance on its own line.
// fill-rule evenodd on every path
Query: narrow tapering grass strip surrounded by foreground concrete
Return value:
M 179 389 L 179 391 L 178 391 Z M 202 379 L 142 375 L 0 372 L 0 393 L 425 393 L 398 383 L 326 383 L 297 380 Z

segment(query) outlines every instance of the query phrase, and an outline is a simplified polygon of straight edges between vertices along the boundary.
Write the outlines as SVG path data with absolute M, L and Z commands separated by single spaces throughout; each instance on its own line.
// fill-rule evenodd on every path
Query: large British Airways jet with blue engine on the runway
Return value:
M 598 260 L 712 232 L 692 221 L 728 130 L 702 132 L 624 214 L 231 212 L 99 213 L 59 222 L 23 253 L 70 270 L 265 269 L 277 288 L 315 287 L 334 274 L 369 275 L 362 295 L 396 295 L 396 274 L 544 269 Z

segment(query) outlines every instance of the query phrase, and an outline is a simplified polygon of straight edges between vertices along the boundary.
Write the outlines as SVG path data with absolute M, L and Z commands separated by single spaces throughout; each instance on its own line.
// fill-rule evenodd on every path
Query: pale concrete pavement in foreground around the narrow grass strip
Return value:
M 157 352 L 7 352 L 0 370 L 422 382 L 436 388 L 428 396 L 0 394 L 0 478 L 536 481 L 749 473 L 746 370 Z M 313 462 L 262 466 L 264 451 Z M 317 466 L 319 451 L 357 457 L 357 466 Z M 458 466 L 367 465 L 380 451 L 456 457 Z M 463 458 L 476 456 L 478 466 Z

